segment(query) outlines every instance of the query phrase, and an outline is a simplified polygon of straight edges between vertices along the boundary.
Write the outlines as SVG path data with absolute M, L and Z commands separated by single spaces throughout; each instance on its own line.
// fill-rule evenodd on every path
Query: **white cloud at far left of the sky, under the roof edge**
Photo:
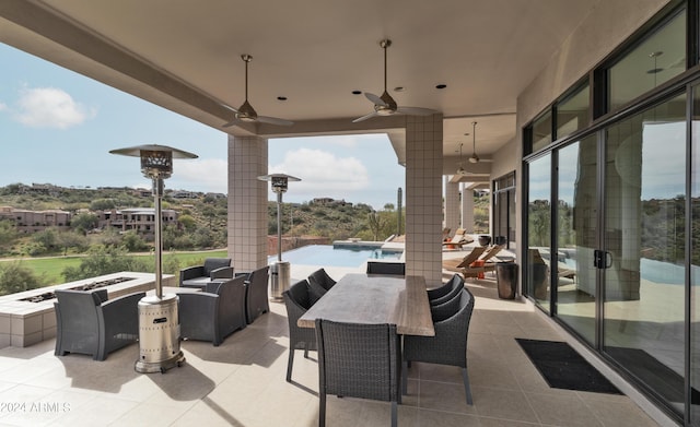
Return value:
M 15 119 L 32 128 L 68 129 L 95 114 L 60 88 L 34 87 L 22 90 Z

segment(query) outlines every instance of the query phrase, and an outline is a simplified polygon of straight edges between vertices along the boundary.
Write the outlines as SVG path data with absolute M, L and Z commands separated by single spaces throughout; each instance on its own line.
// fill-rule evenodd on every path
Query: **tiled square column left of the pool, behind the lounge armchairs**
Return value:
M 267 265 L 267 139 L 229 137 L 229 257 L 236 272 Z

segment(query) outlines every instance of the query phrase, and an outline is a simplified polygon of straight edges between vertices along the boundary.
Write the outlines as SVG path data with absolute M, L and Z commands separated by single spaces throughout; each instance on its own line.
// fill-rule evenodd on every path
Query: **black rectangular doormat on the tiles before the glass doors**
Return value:
M 560 341 L 515 339 L 549 387 L 622 394 L 569 344 Z

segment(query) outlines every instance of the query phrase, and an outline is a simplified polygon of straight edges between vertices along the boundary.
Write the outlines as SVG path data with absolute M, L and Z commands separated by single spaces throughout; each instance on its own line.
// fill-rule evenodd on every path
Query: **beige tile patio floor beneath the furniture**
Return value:
M 292 271 L 292 276 L 299 274 Z M 468 341 L 474 406 L 458 368 L 415 364 L 399 426 L 656 426 L 625 395 L 550 389 L 514 337 L 563 340 L 532 305 L 499 299 L 492 280 L 469 281 L 476 296 Z M 298 351 L 284 381 L 287 318 L 271 312 L 213 347 L 184 342 L 187 358 L 165 375 L 138 373 L 135 344 L 94 361 L 54 356 L 54 341 L 0 349 L 0 426 L 317 426 L 315 353 Z M 387 426 L 381 402 L 328 398 L 327 425 Z

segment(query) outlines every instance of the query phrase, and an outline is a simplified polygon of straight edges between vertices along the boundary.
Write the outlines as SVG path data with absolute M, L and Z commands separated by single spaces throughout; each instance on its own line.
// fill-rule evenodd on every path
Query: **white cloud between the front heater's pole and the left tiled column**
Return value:
M 229 165 L 225 159 L 197 158 L 173 162 L 173 179 L 177 179 L 183 188 L 189 190 L 226 193 L 228 174 Z

